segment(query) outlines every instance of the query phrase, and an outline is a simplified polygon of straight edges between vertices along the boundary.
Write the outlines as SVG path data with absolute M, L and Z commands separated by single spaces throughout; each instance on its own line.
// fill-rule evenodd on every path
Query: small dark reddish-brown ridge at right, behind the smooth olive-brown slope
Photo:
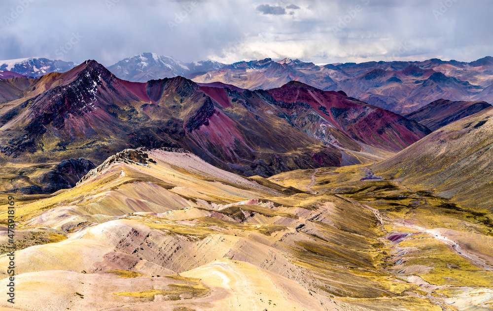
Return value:
M 486 102 L 452 102 L 439 99 L 438 101 L 427 104 L 404 116 L 435 131 L 442 126 L 470 116 L 471 114 L 475 114 L 491 106 L 491 104 Z

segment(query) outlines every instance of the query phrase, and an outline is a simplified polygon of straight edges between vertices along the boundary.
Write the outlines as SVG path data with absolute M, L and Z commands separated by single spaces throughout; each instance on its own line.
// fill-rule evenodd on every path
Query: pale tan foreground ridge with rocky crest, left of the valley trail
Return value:
M 374 212 L 270 184 L 182 150 L 111 156 L 75 188 L 16 209 L 16 237 L 35 237 L 16 244 L 16 308 L 440 310 L 382 268 Z

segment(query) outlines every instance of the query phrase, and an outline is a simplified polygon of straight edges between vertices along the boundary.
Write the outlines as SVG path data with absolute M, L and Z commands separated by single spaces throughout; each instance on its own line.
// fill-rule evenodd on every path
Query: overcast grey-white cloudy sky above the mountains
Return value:
M 493 56 L 492 13 L 491 0 L 1 0 L 0 59 L 472 61 Z

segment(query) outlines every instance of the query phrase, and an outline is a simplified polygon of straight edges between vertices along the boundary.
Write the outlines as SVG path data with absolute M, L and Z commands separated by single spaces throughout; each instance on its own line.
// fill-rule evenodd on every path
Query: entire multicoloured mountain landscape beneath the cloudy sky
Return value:
M 489 60 L 3 70 L 0 309 L 491 310 Z

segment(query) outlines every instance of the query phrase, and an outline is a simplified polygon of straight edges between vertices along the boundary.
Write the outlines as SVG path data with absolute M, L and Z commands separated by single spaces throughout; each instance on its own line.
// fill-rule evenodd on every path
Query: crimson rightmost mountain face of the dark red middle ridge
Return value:
M 399 151 L 430 133 L 426 127 L 391 111 L 301 82 L 289 82 L 266 93 L 303 131 L 339 146 L 348 145 L 343 138 L 336 138 L 345 133 L 359 144 Z M 320 117 L 318 124 L 310 122 L 314 115 Z

